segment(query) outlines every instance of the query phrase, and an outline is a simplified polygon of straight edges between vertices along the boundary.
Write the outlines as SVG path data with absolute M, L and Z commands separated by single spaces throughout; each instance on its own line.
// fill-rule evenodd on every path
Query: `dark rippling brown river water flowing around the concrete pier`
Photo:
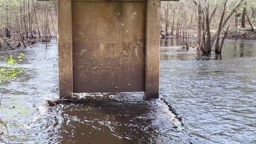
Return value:
M 256 143 L 256 41 L 227 40 L 222 55 L 211 57 L 179 45 L 161 41 L 158 100 L 135 92 L 95 93 L 90 96 L 97 102 L 48 108 L 42 102 L 58 97 L 56 41 L 47 49 L 37 43 L 1 51 L 25 54 L 16 64 L 25 72 L 9 86 L 0 109 L 11 143 Z M 0 143 L 8 138 L 1 136 Z

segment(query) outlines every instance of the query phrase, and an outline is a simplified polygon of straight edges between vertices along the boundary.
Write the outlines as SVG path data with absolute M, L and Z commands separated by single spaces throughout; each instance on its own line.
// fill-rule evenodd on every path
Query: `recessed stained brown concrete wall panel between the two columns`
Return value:
M 73 2 L 74 92 L 145 89 L 145 2 Z

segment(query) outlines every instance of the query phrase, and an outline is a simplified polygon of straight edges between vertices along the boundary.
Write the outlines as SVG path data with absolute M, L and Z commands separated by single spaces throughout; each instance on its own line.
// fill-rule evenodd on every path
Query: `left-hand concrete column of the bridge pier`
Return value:
M 73 96 L 72 0 L 57 0 L 57 4 L 59 96 L 70 99 Z

